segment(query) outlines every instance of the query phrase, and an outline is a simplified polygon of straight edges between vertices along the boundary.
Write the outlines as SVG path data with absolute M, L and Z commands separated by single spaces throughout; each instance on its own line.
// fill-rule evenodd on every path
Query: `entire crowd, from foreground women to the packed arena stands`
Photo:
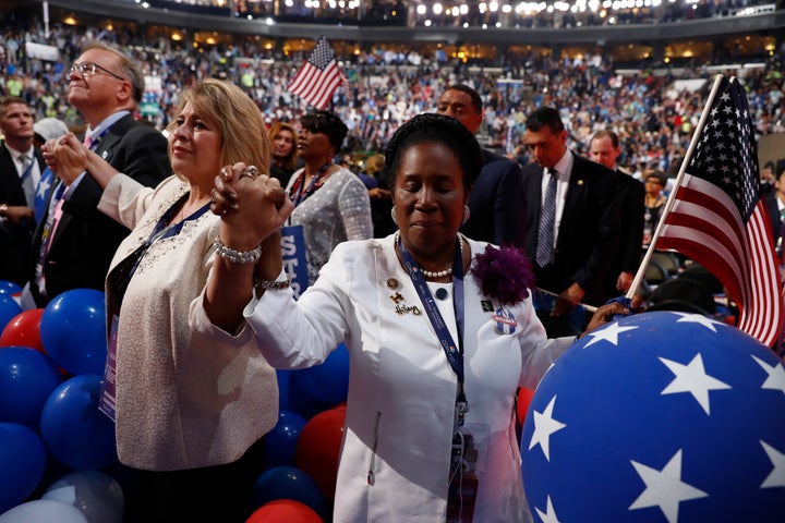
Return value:
M 629 313 L 606 302 L 630 289 L 702 92 L 602 57 L 532 58 L 508 71 L 524 78 L 515 89 L 459 62 L 361 57 L 317 111 L 287 93 L 299 63 L 255 60 L 252 42 L 25 34 L 59 49 L 46 62 L 9 45 L 19 37 L 4 35 L 14 199 L 0 200 L 1 231 L 27 241 L 13 245 L 28 307 L 106 292 L 100 406 L 140 474 L 128 521 L 244 521 L 276 422 L 274 367 L 317 365 L 341 342 L 337 521 L 529 521 L 516 388 Z M 746 76 L 761 135 L 785 123 L 781 58 Z M 133 114 L 145 100 L 158 106 L 147 124 Z M 44 136 L 45 118 L 70 132 Z M 299 295 L 289 229 L 304 239 Z M 535 309 L 535 282 L 552 306 Z M 583 304 L 595 312 L 567 325 Z

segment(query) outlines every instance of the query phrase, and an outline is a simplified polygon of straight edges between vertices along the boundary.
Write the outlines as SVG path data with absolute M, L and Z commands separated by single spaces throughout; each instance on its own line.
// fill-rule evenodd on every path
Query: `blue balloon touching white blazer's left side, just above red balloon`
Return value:
M 346 401 L 349 391 L 349 350 L 346 345 L 339 344 L 322 365 L 292 373 L 289 393 L 293 391 L 328 409 Z

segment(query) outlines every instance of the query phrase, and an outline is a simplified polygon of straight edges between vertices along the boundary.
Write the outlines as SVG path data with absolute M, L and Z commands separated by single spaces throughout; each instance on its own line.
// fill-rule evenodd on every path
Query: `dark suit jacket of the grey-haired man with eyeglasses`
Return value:
M 95 151 L 114 169 L 148 186 L 157 185 L 171 173 L 166 137 L 131 114 L 109 129 Z M 52 185 L 50 198 L 60 183 L 58 180 Z M 129 230 L 96 208 L 101 193 L 98 183 L 87 173 L 63 204 L 63 215 L 45 259 L 46 296 L 40 294 L 35 281 L 31 283 L 39 307 L 71 289 L 104 291 L 109 263 Z M 36 230 L 35 253 L 40 250 L 47 214 Z

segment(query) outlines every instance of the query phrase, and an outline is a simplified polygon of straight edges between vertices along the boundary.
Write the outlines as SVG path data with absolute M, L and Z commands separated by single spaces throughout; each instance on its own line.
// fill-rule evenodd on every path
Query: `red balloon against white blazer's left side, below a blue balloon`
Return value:
M 346 406 L 319 412 L 300 431 L 294 463 L 316 482 L 327 500 L 335 498 Z

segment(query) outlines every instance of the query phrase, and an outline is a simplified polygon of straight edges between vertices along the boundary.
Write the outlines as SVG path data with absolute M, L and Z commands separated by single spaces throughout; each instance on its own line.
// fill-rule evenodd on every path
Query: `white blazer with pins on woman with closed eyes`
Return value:
M 485 247 L 469 244 L 473 254 Z M 396 303 L 396 294 L 403 300 Z M 530 521 L 514 396 L 518 386 L 534 388 L 573 339 L 547 340 L 531 299 L 508 307 L 518 325 L 503 335 L 483 300 L 480 282 L 467 275 L 467 428 L 480 451 L 474 521 Z M 398 314 L 401 304 L 422 314 Z M 396 257 L 394 236 L 338 245 L 298 302 L 290 291 L 267 291 L 245 314 L 275 367 L 317 365 L 346 341 L 349 397 L 335 521 L 445 521 L 457 378 Z

